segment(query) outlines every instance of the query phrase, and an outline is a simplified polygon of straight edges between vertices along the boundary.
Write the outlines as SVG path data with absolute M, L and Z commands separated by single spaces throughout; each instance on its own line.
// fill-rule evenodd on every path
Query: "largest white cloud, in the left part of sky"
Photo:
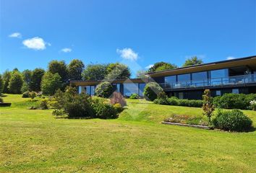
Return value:
M 34 50 L 44 50 L 46 49 L 46 45 L 51 45 L 50 43 L 46 43 L 41 37 L 33 37 L 27 40 L 23 40 L 22 44 L 27 48 Z

